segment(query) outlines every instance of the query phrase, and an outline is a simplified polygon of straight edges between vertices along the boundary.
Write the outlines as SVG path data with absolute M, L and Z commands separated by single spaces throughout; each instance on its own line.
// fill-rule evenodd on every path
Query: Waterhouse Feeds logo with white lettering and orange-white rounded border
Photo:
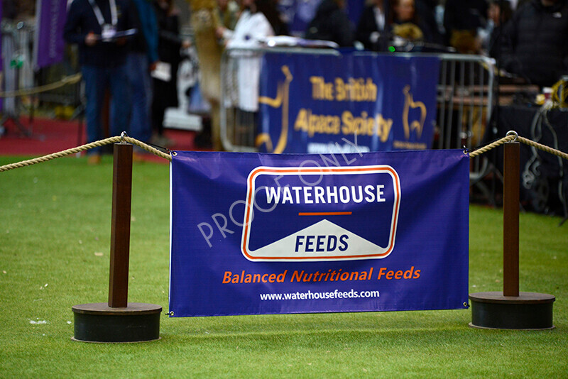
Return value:
M 261 261 L 386 258 L 399 208 L 400 177 L 388 165 L 256 167 L 241 252 Z

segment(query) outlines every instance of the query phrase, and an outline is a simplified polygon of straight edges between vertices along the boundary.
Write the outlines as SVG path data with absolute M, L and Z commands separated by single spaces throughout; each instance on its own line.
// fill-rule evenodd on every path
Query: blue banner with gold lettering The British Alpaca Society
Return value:
M 437 57 L 267 53 L 256 145 L 268 153 L 425 150 L 436 120 Z

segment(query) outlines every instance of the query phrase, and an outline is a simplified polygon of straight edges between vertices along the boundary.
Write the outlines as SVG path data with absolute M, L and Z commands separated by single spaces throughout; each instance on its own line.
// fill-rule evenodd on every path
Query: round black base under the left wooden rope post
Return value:
M 129 303 L 126 308 L 107 303 L 80 304 L 75 314 L 75 341 L 142 342 L 160 339 L 160 313 L 155 304 Z

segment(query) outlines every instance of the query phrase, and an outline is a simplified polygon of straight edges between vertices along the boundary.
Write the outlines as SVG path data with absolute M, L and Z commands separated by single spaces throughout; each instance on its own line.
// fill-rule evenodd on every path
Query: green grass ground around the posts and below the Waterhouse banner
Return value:
M 21 158 L 0 158 L 0 165 Z M 129 301 L 168 309 L 169 170 L 133 169 Z M 108 298 L 111 158 L 0 172 L 0 377 L 568 375 L 568 224 L 520 216 L 520 290 L 555 295 L 548 331 L 468 326 L 471 311 L 160 320 L 160 341 L 72 341 L 71 307 Z M 470 208 L 470 292 L 502 290 L 502 212 Z M 45 321 L 46 324 L 31 324 Z

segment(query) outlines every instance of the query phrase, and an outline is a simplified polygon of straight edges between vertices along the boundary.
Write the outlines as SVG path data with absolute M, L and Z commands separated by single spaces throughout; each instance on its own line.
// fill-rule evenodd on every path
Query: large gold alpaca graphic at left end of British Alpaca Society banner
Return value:
M 258 97 L 260 104 L 266 104 L 273 108 L 282 106 L 282 131 L 280 131 L 280 138 L 278 138 L 276 147 L 273 149 L 272 138 L 268 133 L 259 134 L 256 136 L 255 141 L 257 147 L 264 143 L 266 144 L 266 151 L 275 154 L 282 153 L 288 142 L 288 108 L 290 106 L 290 82 L 292 82 L 293 76 L 288 66 L 282 66 L 282 72 L 286 79 L 284 82 L 278 83 L 278 92 L 275 99 L 266 96 Z

